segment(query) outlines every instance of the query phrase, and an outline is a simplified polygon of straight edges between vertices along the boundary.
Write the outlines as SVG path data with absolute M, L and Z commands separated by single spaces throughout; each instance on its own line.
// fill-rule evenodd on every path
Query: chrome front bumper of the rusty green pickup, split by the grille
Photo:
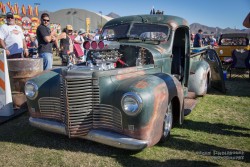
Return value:
M 29 118 L 29 122 L 34 127 L 67 135 L 63 123 L 32 117 Z M 118 133 L 97 129 L 93 129 L 86 136 L 79 136 L 79 138 L 127 150 L 142 150 L 148 145 L 148 141 L 146 140 L 138 140 Z

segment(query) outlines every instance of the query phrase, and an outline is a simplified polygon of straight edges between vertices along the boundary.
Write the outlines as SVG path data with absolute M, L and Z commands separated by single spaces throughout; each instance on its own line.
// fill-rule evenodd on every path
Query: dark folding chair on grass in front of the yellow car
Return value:
M 229 68 L 230 78 L 232 73 L 234 77 L 245 78 L 245 74 L 249 75 L 250 78 L 250 50 L 238 50 L 235 49 L 232 52 L 232 64 Z

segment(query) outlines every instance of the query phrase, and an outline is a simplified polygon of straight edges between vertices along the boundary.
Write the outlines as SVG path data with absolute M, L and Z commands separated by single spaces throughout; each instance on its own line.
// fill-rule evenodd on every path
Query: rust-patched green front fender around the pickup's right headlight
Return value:
M 135 93 L 142 99 L 141 111 L 133 116 L 122 109 L 121 99 L 128 92 Z M 142 75 L 120 82 L 112 100 L 113 105 L 121 110 L 124 134 L 147 140 L 148 146 L 158 143 L 162 136 L 168 97 L 169 92 L 165 81 L 154 75 Z

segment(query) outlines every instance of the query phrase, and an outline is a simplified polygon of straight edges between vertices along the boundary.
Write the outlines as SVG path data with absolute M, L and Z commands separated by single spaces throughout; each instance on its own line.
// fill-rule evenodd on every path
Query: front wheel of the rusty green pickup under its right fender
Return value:
M 165 114 L 163 120 L 163 132 L 160 142 L 165 142 L 170 137 L 170 130 L 172 129 L 173 125 L 173 107 L 172 102 L 168 105 L 168 111 Z

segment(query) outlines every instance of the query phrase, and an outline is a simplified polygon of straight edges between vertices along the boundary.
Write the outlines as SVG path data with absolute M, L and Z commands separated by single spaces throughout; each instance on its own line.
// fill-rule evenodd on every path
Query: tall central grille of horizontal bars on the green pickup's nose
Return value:
M 99 87 L 93 79 L 66 79 L 67 127 L 70 137 L 86 135 L 92 128 L 93 105 L 99 104 Z

